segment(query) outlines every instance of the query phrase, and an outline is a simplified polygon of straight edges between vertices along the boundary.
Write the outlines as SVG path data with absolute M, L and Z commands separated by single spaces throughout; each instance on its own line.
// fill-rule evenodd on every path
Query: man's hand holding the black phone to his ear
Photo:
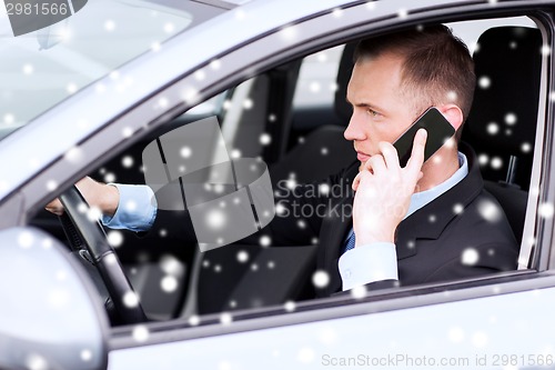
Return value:
M 372 156 L 353 181 L 355 246 L 395 242 L 395 230 L 403 220 L 422 178 L 427 132 L 420 129 L 413 141 L 411 158 L 402 168 L 393 144 L 380 142 L 380 153 Z

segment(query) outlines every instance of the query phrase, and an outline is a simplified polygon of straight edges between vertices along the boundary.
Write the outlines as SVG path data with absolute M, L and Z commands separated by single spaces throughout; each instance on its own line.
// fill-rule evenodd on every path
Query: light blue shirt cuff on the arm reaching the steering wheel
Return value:
M 149 230 L 157 218 L 157 198 L 148 186 L 109 183 L 118 188 L 120 202 L 113 217 L 102 216 L 102 223 L 110 229 L 131 231 Z

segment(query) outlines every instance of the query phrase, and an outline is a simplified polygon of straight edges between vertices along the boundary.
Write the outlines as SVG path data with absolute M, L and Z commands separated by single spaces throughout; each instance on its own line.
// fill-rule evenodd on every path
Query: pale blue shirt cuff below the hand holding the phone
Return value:
M 398 280 L 395 244 L 377 242 L 347 250 L 340 258 L 343 290 L 380 280 Z

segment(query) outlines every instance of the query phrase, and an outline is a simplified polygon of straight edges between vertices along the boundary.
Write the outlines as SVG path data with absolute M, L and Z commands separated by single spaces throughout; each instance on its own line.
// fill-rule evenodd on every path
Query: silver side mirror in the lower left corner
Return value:
M 0 231 L 0 369 L 107 369 L 108 318 L 84 269 L 34 228 Z

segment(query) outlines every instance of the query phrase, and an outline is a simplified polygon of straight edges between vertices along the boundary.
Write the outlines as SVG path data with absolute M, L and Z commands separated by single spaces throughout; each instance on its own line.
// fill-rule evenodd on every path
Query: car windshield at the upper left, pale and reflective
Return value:
M 17 16 L 43 9 L 0 2 L 0 139 L 183 29 L 224 11 L 167 0 L 80 0 L 84 7 L 75 11 L 77 2 L 69 2 L 72 16 L 20 36 L 14 36 L 21 29 Z

